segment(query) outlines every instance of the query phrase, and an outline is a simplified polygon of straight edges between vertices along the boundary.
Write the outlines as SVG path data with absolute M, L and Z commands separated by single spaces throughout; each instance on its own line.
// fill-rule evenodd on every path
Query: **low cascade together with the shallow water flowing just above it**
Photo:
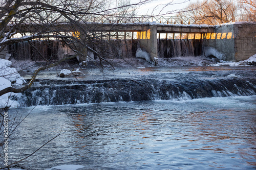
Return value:
M 18 102 L 35 106 L 256 95 L 255 67 L 116 68 L 103 75 L 95 68 L 83 71 L 88 74 L 77 78 L 42 72 Z

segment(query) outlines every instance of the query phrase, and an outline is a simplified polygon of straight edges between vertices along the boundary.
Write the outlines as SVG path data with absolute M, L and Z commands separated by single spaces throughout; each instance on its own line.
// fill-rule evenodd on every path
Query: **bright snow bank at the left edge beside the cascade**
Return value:
M 24 78 L 20 77 L 15 68 L 11 68 L 11 61 L 0 59 L 0 90 L 7 87 L 20 86 L 25 83 Z M 18 107 L 19 103 L 17 101 L 10 100 L 10 98 L 20 94 L 15 94 L 12 92 L 3 94 L 0 96 L 0 108 L 5 107 Z

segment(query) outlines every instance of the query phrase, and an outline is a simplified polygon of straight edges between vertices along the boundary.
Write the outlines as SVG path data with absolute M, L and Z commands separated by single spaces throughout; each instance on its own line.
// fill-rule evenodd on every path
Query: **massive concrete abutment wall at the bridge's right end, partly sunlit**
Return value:
M 246 60 L 256 54 L 256 22 L 223 24 L 215 33 L 205 34 L 205 47 L 214 47 L 225 61 Z

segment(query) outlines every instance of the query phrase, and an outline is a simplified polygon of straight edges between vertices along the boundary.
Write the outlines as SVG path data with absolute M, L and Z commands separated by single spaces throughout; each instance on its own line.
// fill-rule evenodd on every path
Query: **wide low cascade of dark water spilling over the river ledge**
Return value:
M 121 79 L 69 81 L 39 80 L 23 92 L 23 106 L 63 105 L 119 101 L 190 100 L 256 95 L 251 79 Z

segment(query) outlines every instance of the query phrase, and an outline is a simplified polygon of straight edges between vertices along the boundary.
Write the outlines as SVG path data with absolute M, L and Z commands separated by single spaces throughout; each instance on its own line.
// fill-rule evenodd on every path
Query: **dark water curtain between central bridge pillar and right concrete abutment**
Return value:
M 190 57 L 202 55 L 202 42 L 188 39 L 158 39 L 160 57 Z

